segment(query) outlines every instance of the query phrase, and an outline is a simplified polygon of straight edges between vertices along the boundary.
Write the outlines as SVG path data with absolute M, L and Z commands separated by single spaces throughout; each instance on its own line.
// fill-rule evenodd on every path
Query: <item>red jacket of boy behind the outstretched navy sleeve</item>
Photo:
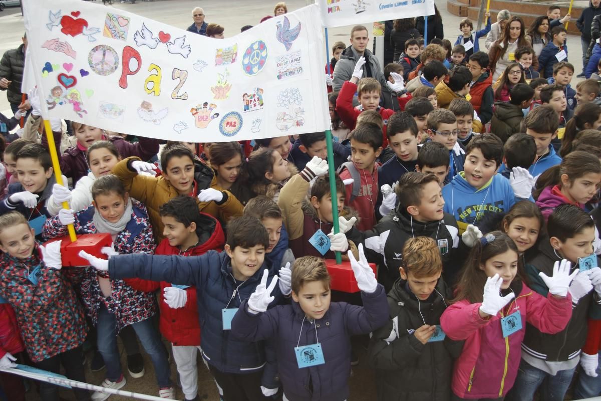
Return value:
M 201 213 L 205 216 L 209 216 L 205 213 Z M 211 216 L 209 216 L 211 217 Z M 198 256 L 215 249 L 221 252 L 222 246 L 225 243 L 224 231 L 221 228 L 221 224 L 215 218 L 211 217 L 215 221 L 214 228 L 210 230 L 210 237 L 203 243 L 190 248 L 184 253 L 180 253 L 180 249 L 177 246 L 169 245 L 168 239 L 163 239 L 159 246 L 154 251 L 155 255 L 183 255 L 183 256 Z M 203 228 L 207 228 L 206 225 Z M 196 287 L 188 287 L 186 292 L 188 293 L 188 301 L 185 307 L 172 309 L 163 300 L 163 289 L 165 287 L 171 287 L 171 283 L 166 281 L 150 281 L 142 280 L 141 278 L 129 278 L 125 280 L 129 286 L 133 289 L 147 292 L 154 292 L 160 289 L 159 292 L 159 305 L 160 305 L 160 322 L 159 328 L 161 334 L 176 346 L 200 346 L 200 323 L 198 322 L 198 307 L 197 307 L 197 296 Z

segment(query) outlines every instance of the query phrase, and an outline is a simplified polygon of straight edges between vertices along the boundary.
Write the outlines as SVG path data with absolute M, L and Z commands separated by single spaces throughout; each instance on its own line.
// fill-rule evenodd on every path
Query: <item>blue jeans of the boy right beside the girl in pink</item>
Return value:
M 541 400 L 563 401 L 575 370 L 576 368 L 560 370 L 557 375 L 551 376 L 521 360 L 516 382 L 507 393 L 507 401 L 532 401 L 539 387 Z

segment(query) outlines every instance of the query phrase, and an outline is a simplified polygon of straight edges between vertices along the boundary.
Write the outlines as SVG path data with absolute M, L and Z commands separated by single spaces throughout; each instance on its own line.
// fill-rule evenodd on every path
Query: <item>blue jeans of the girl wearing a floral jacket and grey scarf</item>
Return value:
M 152 319 L 132 323 L 131 326 L 138 334 L 144 350 L 152 360 L 159 387 L 170 387 L 169 362 L 165 354 L 165 347 L 160 341 L 159 332 L 154 328 Z M 103 304 L 100 305 L 98 310 L 96 330 L 98 350 L 106 364 L 106 378 L 110 381 L 117 381 L 121 377 L 121 360 L 117 348 L 117 320 L 115 315 L 109 312 Z

